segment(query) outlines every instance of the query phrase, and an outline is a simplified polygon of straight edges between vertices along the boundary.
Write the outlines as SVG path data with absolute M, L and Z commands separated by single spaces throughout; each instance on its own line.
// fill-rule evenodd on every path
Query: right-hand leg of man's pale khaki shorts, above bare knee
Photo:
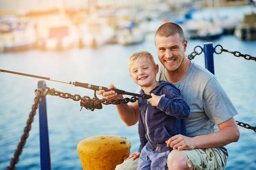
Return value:
M 197 170 L 223 170 L 219 153 L 213 148 L 182 150 Z

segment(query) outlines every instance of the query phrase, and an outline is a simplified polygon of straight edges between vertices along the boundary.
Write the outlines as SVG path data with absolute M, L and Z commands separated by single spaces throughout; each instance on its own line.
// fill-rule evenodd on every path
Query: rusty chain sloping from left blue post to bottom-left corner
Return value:
M 23 135 L 20 138 L 20 142 L 17 146 L 17 150 L 15 150 L 13 154 L 13 158 L 10 161 L 10 166 L 7 167 L 7 170 L 15 170 L 15 164 L 19 161 L 19 156 L 22 153 L 22 148 L 26 144 L 26 140 L 29 137 L 29 131 L 31 129 L 31 124 L 34 121 L 34 116 L 36 115 L 36 109 L 38 108 L 38 103 L 41 101 L 41 97 L 45 95 L 43 89 L 35 90 L 36 97 L 34 98 L 34 105 L 32 105 L 32 111 L 29 113 L 29 119 L 27 120 L 27 126 L 25 126 Z

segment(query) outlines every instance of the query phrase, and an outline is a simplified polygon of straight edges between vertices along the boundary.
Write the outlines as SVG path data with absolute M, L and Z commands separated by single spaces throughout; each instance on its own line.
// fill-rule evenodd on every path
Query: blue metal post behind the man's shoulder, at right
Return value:
M 204 43 L 205 68 L 209 70 L 212 74 L 214 74 L 213 53 L 214 53 L 213 43 L 212 42 Z

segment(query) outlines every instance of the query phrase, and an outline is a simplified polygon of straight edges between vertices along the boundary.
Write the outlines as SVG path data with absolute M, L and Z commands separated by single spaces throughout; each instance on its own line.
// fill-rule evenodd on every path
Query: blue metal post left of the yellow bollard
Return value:
M 45 81 L 38 81 L 37 87 L 45 89 Z M 45 96 L 39 103 L 39 130 L 40 130 L 40 164 L 41 170 L 51 170 L 51 153 L 49 146 L 47 111 Z

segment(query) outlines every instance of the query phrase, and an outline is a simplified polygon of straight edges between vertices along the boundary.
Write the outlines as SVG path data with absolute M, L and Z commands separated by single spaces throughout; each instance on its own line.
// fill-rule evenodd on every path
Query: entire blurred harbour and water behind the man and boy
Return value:
M 256 57 L 255 11 L 254 0 L 0 0 L 0 69 L 105 87 L 113 83 L 135 92 L 128 57 L 144 49 L 159 63 L 154 44 L 159 26 L 175 22 L 184 29 L 186 55 L 212 42 L 213 47 Z M 193 61 L 204 67 L 203 53 Z M 255 64 L 228 52 L 214 54 L 215 75 L 239 113 L 235 119 L 251 126 L 256 126 Z M 1 170 L 20 141 L 39 80 L 0 72 Z M 90 89 L 53 81 L 46 85 L 94 97 Z M 79 102 L 46 98 L 53 170 L 81 170 L 76 145 L 95 135 L 127 137 L 130 153 L 137 151 L 137 124 L 127 127 L 114 105 L 80 111 Z M 227 146 L 226 169 L 256 170 L 256 134 L 239 129 L 239 141 Z M 16 169 L 40 169 L 38 111 Z

